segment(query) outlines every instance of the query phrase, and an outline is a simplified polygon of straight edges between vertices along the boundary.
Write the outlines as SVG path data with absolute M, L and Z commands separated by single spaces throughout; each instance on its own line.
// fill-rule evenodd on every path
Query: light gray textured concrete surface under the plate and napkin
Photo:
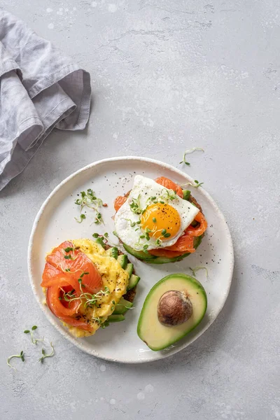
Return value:
M 209 3 L 210 2 L 210 3 Z M 276 0 L 2 0 L 90 71 L 85 132 L 54 132 L 0 194 L 0 418 L 280 419 L 280 4 Z M 38 308 L 27 243 L 45 197 L 99 158 L 144 155 L 179 167 L 223 210 L 235 275 L 221 316 L 176 356 L 118 365 L 71 346 Z M 15 360 L 36 323 L 57 354 Z M 125 345 L 125 344 L 124 344 Z M 32 353 L 33 351 L 33 353 Z

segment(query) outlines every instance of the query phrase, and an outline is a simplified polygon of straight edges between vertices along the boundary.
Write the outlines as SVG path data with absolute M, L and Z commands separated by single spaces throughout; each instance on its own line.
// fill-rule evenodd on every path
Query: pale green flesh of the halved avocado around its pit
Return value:
M 170 290 L 186 292 L 193 304 L 193 314 L 181 325 L 165 326 L 158 320 L 158 302 Z M 148 293 L 139 317 L 137 334 L 151 350 L 165 349 L 192 331 L 202 321 L 206 310 L 207 295 L 199 281 L 187 274 L 169 274 Z

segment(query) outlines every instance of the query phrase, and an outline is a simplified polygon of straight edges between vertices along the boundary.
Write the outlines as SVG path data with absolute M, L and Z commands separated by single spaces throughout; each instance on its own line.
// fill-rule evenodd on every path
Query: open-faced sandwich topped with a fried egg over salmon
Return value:
M 207 221 L 200 204 L 170 179 L 137 175 L 116 197 L 115 230 L 125 250 L 146 262 L 182 260 L 200 245 Z

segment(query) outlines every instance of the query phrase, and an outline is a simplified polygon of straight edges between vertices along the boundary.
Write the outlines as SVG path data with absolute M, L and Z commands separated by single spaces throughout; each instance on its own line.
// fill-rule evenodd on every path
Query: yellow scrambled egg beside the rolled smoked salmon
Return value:
M 84 308 L 83 304 L 80 305 L 79 311 L 83 314 L 83 317 L 90 320 L 93 332 L 81 330 L 64 323 L 74 337 L 87 337 L 88 335 L 93 335 L 113 313 L 116 304 L 120 301 L 120 297 L 126 293 L 129 274 L 115 258 L 110 256 L 110 250 L 105 251 L 101 245 L 96 244 L 94 241 L 90 239 L 74 239 L 71 242 L 73 245 L 79 246 L 80 251 L 94 262 L 102 276 L 102 290 L 105 287 L 109 290 L 109 293 L 98 297 L 97 303 L 92 305 L 92 307 Z

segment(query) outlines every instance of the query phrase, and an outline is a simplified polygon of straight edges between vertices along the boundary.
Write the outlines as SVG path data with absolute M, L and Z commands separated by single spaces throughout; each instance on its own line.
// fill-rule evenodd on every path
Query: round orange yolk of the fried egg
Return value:
M 166 241 L 177 235 L 181 218 L 174 207 L 169 204 L 155 203 L 148 206 L 141 216 L 141 228 L 150 237 Z M 165 235 L 165 236 L 164 236 Z

